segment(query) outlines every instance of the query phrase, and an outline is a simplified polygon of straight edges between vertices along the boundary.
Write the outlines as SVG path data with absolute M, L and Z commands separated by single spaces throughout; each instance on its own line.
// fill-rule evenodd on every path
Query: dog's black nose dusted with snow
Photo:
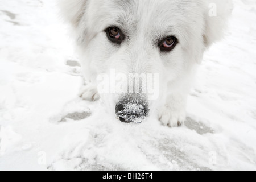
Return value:
M 119 101 L 115 106 L 115 113 L 121 122 L 142 122 L 149 112 L 146 101 L 136 99 L 125 99 Z

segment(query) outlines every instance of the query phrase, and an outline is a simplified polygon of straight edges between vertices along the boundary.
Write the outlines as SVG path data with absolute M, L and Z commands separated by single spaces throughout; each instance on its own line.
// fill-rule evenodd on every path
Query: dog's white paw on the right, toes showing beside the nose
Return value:
M 168 107 L 159 110 L 158 119 L 164 126 L 177 127 L 184 124 L 186 118 L 185 110 L 172 111 Z

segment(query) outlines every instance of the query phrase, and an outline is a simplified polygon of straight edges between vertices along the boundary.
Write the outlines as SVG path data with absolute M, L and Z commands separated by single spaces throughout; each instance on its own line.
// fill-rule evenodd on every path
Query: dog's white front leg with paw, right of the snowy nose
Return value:
M 186 118 L 187 94 L 171 94 L 167 96 L 166 104 L 160 107 L 158 119 L 163 125 L 176 127 L 183 125 Z

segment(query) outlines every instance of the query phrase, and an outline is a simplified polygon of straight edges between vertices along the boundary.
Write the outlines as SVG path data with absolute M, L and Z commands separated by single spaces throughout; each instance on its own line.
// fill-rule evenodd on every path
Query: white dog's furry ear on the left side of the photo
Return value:
M 73 28 L 79 26 L 85 12 L 86 0 L 59 0 L 61 16 L 71 23 Z

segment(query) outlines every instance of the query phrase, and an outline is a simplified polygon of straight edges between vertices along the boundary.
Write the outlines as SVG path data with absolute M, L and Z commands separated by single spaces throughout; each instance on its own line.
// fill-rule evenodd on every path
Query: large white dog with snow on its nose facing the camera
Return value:
M 101 98 L 122 122 L 140 122 L 157 111 L 159 121 L 170 127 L 185 121 L 194 68 L 204 51 L 222 38 L 232 10 L 226 0 L 63 0 L 60 4 L 75 30 L 88 81 L 81 97 Z M 154 92 L 148 91 L 150 84 Z

